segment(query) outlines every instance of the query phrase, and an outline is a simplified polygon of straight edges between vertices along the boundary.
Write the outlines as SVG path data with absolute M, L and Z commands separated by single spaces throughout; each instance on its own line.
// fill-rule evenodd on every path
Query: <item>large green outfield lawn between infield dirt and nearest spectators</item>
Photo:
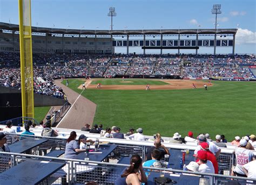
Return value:
M 116 80 L 113 80 L 116 81 Z M 134 80 L 136 81 L 136 80 Z M 143 80 L 142 80 L 143 81 Z M 65 81 L 64 81 L 65 83 Z M 69 80 L 77 87 L 82 80 Z M 173 136 L 194 134 L 224 134 L 228 141 L 234 136 L 256 134 L 256 83 L 212 81 L 214 86 L 187 90 L 86 90 L 86 98 L 97 104 L 94 123 L 105 127 L 119 126 L 126 133 L 130 127 L 144 129 L 144 134 L 159 132 Z

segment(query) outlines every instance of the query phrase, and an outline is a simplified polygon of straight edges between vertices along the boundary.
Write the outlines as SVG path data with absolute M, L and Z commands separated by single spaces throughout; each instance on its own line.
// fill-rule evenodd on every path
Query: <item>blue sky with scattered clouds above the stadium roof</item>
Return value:
M 255 0 L 31 0 L 31 22 L 32 26 L 47 28 L 107 30 L 111 25 L 107 13 L 112 6 L 117 13 L 113 17 L 113 30 L 197 29 L 198 25 L 201 29 L 212 29 L 215 27 L 215 15 L 211 12 L 213 4 L 221 4 L 218 28 L 239 29 L 235 53 L 256 53 Z M 18 24 L 18 0 L 0 0 L 0 22 Z M 126 52 L 126 47 L 116 47 L 115 51 Z M 129 51 L 143 52 L 138 47 L 130 47 Z M 159 53 L 159 50 L 146 52 Z M 199 53 L 212 52 L 213 47 L 199 49 Z M 217 47 L 217 53 L 231 52 L 232 47 Z

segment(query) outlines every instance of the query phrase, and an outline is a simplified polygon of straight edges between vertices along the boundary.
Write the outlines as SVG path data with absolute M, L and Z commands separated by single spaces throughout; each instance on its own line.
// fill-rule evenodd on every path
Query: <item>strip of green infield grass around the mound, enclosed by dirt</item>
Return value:
M 131 83 L 125 83 L 125 81 L 131 81 Z M 92 81 L 91 84 L 102 84 L 102 85 L 169 85 L 168 83 L 165 83 L 164 81 L 158 81 L 158 80 L 130 80 L 125 79 L 124 81 L 122 79 L 106 79 L 106 80 L 95 80 Z

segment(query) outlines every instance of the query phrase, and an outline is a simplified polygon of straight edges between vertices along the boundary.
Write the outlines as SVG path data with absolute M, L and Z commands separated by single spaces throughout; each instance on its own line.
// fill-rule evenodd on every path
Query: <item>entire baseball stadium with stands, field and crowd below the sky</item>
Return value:
M 256 183 L 255 51 L 220 8 L 215 29 L 0 22 L 0 184 Z

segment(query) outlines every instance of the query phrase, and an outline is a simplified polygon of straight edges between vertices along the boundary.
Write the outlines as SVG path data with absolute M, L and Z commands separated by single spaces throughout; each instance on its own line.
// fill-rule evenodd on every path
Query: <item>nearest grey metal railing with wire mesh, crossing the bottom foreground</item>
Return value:
M 90 181 L 95 181 L 98 184 L 113 184 L 122 171 L 129 165 L 115 164 L 108 162 L 97 162 L 97 161 L 84 161 L 75 159 L 62 159 L 57 157 L 47 157 L 47 156 L 36 156 L 28 154 L 18 154 L 18 153 L 7 153 L 0 152 L 0 158 L 5 157 L 5 159 L 11 159 L 11 168 L 15 165 L 19 165 L 27 160 L 36 161 L 55 161 L 64 162 L 65 166 L 58 170 L 57 173 L 49 176 L 44 182 L 45 183 L 86 183 Z M 8 157 L 8 158 L 6 158 Z M 150 172 L 157 172 L 160 174 L 176 174 L 179 175 L 198 175 L 200 178 L 200 184 L 224 184 L 227 181 L 235 180 L 242 184 L 253 184 L 256 183 L 256 179 L 250 179 L 246 177 L 237 177 L 229 175 L 218 175 L 218 174 L 207 174 L 207 173 L 196 173 L 183 170 L 174 170 L 170 168 L 151 168 L 144 167 L 145 170 Z M 8 169 L 6 169 L 8 170 Z M 22 173 L 22 172 L 21 172 Z M 166 175 L 167 176 L 167 175 Z M 169 176 L 169 175 L 168 175 Z M 170 176 L 170 178 L 172 178 Z M 181 177 L 185 178 L 185 176 Z

